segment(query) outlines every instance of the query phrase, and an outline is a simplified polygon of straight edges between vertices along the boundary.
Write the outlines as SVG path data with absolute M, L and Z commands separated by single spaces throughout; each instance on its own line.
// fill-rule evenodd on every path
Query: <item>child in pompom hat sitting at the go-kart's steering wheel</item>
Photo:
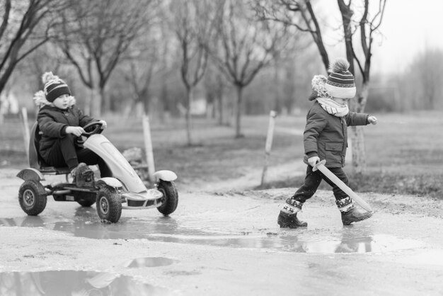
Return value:
M 74 182 L 81 184 L 81 176 L 91 171 L 87 165 L 98 164 L 100 175 L 111 176 L 108 166 L 97 154 L 90 149 L 76 144 L 76 137 L 85 131 L 83 127 L 97 121 L 84 115 L 76 107 L 75 98 L 67 84 L 52 72 L 42 75 L 45 88 L 34 95 L 34 102 L 40 108 L 38 112 L 38 127 L 42 132 L 38 153 L 46 164 L 55 167 L 67 166 L 74 177 Z M 106 127 L 105 120 L 100 120 L 102 129 Z

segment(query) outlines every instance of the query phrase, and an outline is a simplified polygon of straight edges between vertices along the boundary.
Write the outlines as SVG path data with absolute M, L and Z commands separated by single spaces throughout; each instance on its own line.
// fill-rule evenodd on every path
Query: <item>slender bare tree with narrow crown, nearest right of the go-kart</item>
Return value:
M 180 74 L 186 89 L 186 133 L 192 145 L 191 106 L 195 86 L 202 80 L 208 59 L 206 44 L 211 37 L 212 8 L 210 0 L 173 1 L 171 28 L 179 43 L 181 55 Z

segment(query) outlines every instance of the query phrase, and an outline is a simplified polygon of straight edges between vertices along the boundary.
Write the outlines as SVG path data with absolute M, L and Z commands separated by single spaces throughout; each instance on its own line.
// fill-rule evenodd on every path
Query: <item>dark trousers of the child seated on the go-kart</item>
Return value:
M 97 164 L 102 178 L 113 176 L 108 165 L 100 156 L 88 148 L 78 147 L 74 140 L 75 136 L 71 134 L 57 139 L 54 145 L 49 148 L 50 152 L 47 154 L 45 162 L 55 167 L 67 166 L 70 170 L 78 166 L 80 162 L 88 165 Z

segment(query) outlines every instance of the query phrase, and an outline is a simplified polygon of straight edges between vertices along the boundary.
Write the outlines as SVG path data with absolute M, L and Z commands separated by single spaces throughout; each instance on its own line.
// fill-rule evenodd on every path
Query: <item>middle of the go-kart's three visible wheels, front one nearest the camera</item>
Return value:
M 97 214 L 101 220 L 116 223 L 122 215 L 120 195 L 114 188 L 103 186 L 98 190 L 96 199 Z

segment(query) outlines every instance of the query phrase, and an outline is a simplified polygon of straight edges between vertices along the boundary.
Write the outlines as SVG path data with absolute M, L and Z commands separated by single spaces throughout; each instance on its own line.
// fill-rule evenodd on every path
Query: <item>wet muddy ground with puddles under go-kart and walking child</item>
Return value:
M 95 205 L 52 198 L 28 217 L 17 172 L 0 170 L 0 295 L 443 294 L 442 200 L 360 194 L 375 214 L 344 227 L 318 191 L 300 214 L 309 227 L 289 230 L 276 218 L 295 188 L 178 180 L 171 217 L 127 210 L 103 224 Z

